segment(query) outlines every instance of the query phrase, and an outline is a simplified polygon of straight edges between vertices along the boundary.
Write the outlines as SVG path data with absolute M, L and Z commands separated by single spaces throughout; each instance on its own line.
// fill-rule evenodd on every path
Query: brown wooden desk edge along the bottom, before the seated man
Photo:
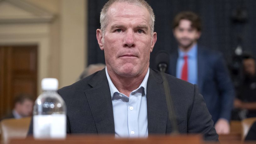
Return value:
M 149 136 L 148 138 L 114 138 L 114 136 L 67 136 L 64 140 L 35 140 L 32 137 L 26 139 L 13 139 L 10 144 L 203 144 L 202 137 L 193 136 Z

